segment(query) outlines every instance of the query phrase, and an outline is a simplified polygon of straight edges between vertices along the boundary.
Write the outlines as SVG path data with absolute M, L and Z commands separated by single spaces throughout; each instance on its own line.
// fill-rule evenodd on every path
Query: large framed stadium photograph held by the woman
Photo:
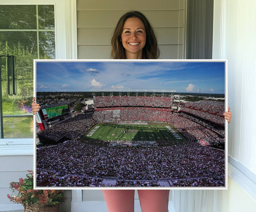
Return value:
M 36 188 L 226 188 L 225 61 L 35 61 Z

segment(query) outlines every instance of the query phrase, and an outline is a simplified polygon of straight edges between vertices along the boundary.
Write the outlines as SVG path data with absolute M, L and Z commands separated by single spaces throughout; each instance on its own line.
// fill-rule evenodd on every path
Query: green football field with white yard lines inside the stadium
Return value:
M 166 126 L 175 132 L 171 133 Z M 126 131 L 126 133 L 122 132 Z M 131 132 L 135 131 L 135 132 Z M 177 135 L 178 134 L 178 135 Z M 175 137 L 176 135 L 176 137 Z M 181 138 L 181 139 L 178 139 Z M 170 141 L 186 142 L 184 137 L 170 124 L 97 124 L 82 137 L 84 140 L 100 141 Z

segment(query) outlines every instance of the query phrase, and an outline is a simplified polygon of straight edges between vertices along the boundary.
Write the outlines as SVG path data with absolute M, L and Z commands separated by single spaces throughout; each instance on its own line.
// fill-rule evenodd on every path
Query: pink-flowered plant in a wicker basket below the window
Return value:
M 11 182 L 12 196 L 10 201 L 24 206 L 24 212 L 58 212 L 59 204 L 63 203 L 63 190 L 33 190 L 33 171 L 28 170 L 27 178 L 19 182 Z

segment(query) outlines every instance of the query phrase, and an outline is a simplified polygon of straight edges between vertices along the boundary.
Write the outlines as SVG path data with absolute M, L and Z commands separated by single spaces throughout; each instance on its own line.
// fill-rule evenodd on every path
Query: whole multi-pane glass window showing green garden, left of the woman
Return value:
M 33 137 L 33 59 L 55 59 L 54 23 L 54 5 L 0 6 L 2 138 Z M 8 94 L 6 55 L 16 56 L 17 95 Z

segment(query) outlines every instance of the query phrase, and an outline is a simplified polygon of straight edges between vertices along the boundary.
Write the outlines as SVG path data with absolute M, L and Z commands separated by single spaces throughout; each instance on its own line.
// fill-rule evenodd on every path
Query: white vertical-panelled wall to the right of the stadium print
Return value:
M 213 46 L 215 59 L 228 59 L 228 105 L 233 112 L 233 118 L 228 125 L 228 155 L 254 174 L 256 174 L 255 8 L 254 0 L 225 0 L 222 39 L 215 36 L 216 42 Z

